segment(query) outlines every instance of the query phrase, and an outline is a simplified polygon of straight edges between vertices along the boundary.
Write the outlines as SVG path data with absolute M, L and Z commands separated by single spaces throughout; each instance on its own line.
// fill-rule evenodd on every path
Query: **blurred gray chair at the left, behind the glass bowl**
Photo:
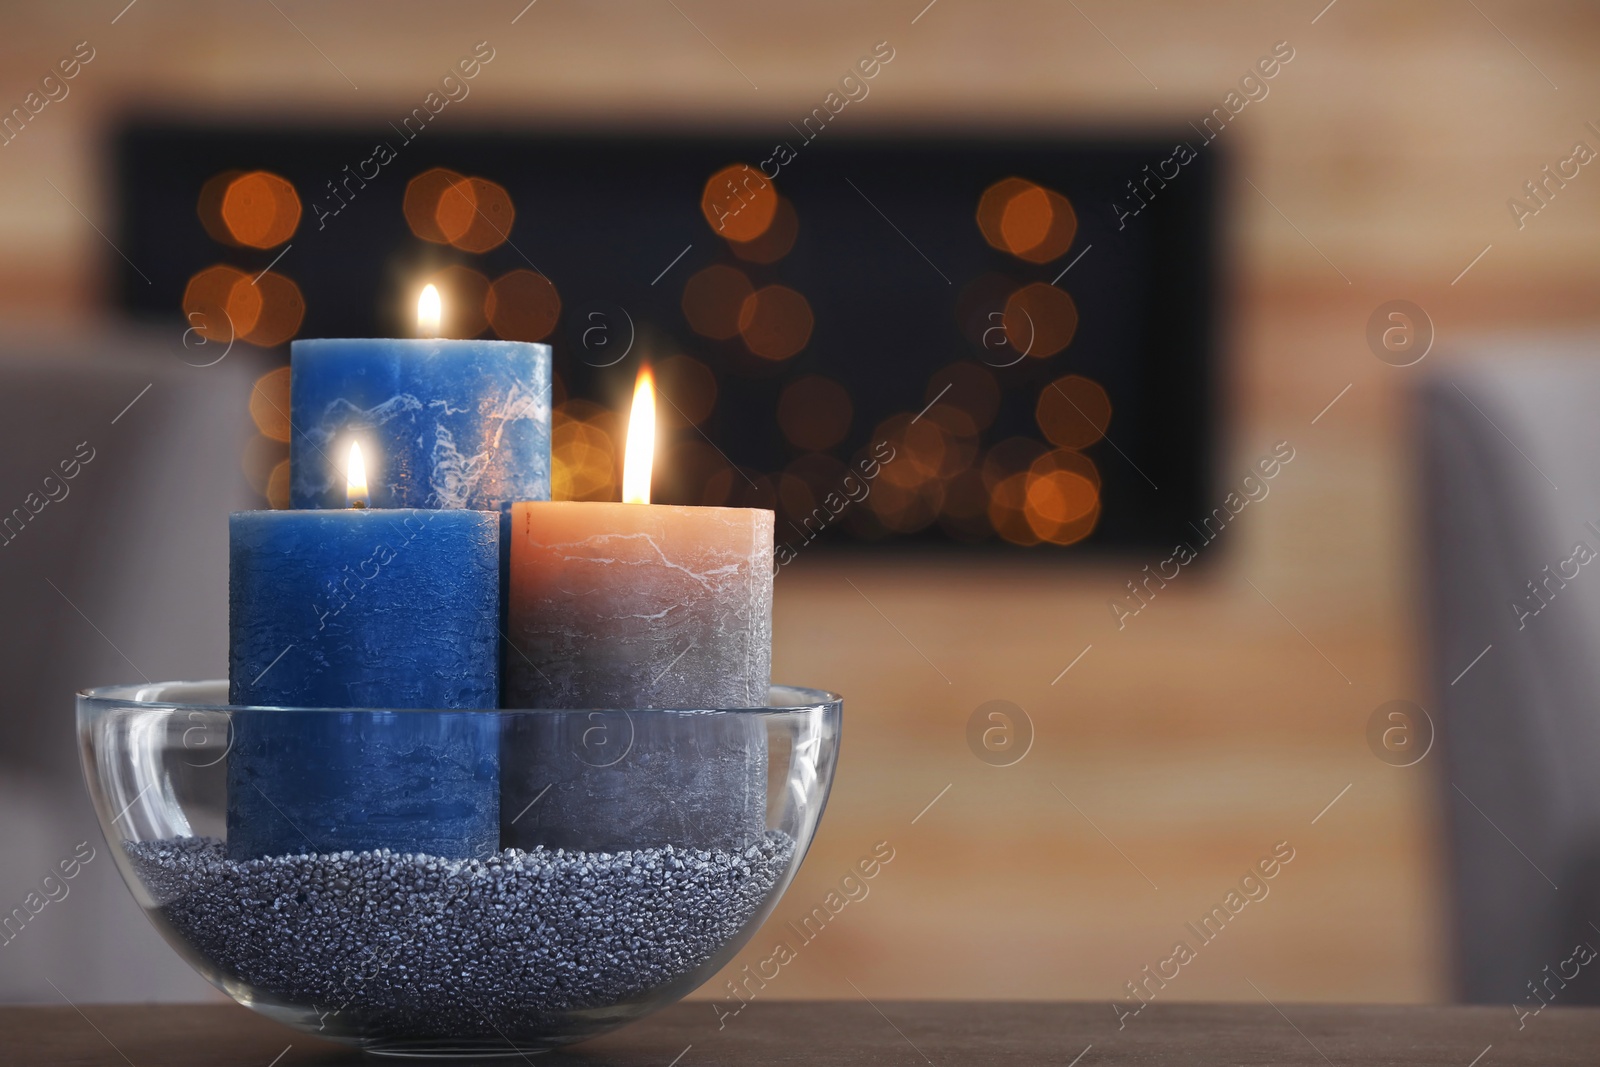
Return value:
M 122 885 L 72 720 L 83 686 L 227 669 L 227 512 L 264 506 L 240 456 L 254 435 L 250 387 L 267 366 L 245 346 L 190 365 L 219 352 L 184 349 L 181 326 L 0 338 L 0 522 L 11 518 L 0 536 L 0 915 L 13 918 L 0 1001 L 219 995 Z M 61 461 L 86 450 L 93 459 L 62 483 Z M 13 509 L 27 510 L 30 493 L 38 514 L 22 522 Z M 40 507 L 46 493 L 58 499 Z M 45 886 L 82 841 L 94 859 Z M 38 907 L 46 889 L 59 899 Z

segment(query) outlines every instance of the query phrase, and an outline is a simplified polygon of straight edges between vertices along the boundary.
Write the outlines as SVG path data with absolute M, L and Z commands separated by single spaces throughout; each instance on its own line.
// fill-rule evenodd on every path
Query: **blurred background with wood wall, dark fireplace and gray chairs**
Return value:
M 216 995 L 110 869 L 69 694 L 224 669 L 288 339 L 406 331 L 435 277 L 461 336 L 555 346 L 557 494 L 614 494 L 642 357 L 683 397 L 670 499 L 803 530 L 843 464 L 909 456 L 778 577 L 774 678 L 842 691 L 846 734 L 733 969 L 894 859 L 763 995 L 1123 1001 L 1280 843 L 1163 998 L 1506 1001 L 1600 937 L 1600 584 L 1534 595 L 1600 545 L 1592 5 L 0 22 L 0 509 L 93 453 L 0 545 L 0 910 L 99 849 L 8 929 L 0 998 Z M 714 179 L 786 141 L 725 240 Z

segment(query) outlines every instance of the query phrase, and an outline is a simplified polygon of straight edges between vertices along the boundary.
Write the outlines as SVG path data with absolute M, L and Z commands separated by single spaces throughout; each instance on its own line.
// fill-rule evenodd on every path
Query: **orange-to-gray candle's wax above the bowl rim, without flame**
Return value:
M 765 705 L 771 608 L 771 512 L 515 504 L 507 707 Z

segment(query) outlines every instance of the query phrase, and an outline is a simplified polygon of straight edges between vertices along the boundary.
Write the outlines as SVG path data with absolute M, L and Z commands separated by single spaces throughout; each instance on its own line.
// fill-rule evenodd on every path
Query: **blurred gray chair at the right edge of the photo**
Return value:
M 1458 993 L 1597 1003 L 1550 976 L 1600 947 L 1600 341 L 1485 350 L 1418 397 Z

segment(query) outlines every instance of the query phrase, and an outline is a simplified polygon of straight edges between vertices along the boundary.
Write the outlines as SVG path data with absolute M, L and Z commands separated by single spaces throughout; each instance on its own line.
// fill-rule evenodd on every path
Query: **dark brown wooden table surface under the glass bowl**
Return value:
M 1312 1067 L 1555 1067 L 1600 1062 L 1600 1008 L 1150 1005 L 1118 1030 L 1104 1003 L 771 1001 L 718 1030 L 680 1003 L 539 1064 L 1307 1064 Z M 291 1067 L 360 1062 L 230 1005 L 0 1008 L 6 1067 Z

